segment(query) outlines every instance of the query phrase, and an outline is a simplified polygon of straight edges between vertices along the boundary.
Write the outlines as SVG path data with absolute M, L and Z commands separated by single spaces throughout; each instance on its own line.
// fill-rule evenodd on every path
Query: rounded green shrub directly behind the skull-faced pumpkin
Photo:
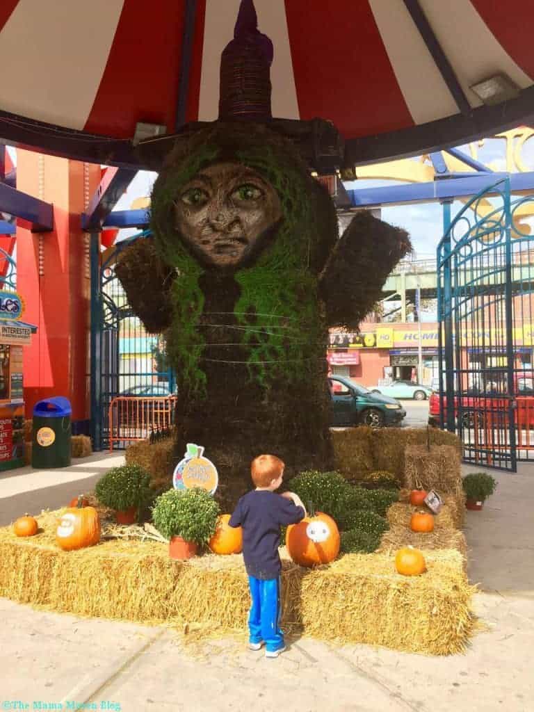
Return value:
M 298 494 L 306 508 L 313 503 L 315 511 L 330 514 L 336 522 L 348 508 L 352 486 L 339 472 L 301 472 L 288 482 L 288 489 Z

